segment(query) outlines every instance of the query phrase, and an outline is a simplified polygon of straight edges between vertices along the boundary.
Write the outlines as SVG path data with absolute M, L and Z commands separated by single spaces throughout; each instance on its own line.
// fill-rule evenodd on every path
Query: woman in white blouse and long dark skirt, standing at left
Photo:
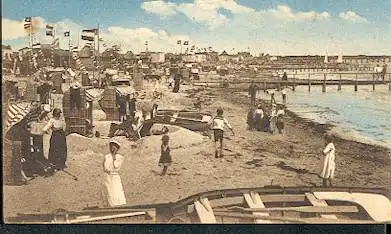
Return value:
M 61 119 L 61 110 L 54 108 L 53 117 L 43 128 L 44 132 L 52 130 L 48 160 L 56 166 L 57 170 L 63 170 L 67 166 L 67 140 L 65 136 L 65 122 Z

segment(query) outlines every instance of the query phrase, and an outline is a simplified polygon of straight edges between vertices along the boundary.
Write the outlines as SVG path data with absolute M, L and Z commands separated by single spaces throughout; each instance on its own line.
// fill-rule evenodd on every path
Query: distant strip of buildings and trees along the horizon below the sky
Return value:
M 33 49 L 33 54 L 35 54 L 36 62 L 39 66 L 44 66 L 45 64 L 54 67 L 76 66 L 76 62 L 70 51 L 53 49 L 51 45 L 40 45 L 39 48 Z M 375 66 L 391 66 L 391 56 L 368 55 L 345 55 L 343 57 L 327 56 L 327 58 L 319 55 L 271 56 L 269 54 L 260 54 L 259 56 L 253 56 L 249 52 L 228 54 L 226 51 L 223 51 L 220 54 L 215 51 L 194 54 L 173 54 L 163 52 L 141 52 L 135 54 L 132 51 L 120 53 L 117 48 L 108 48 L 98 55 L 97 51 L 94 51 L 88 46 L 81 48 L 77 54 L 87 70 L 93 69 L 98 63 L 102 68 L 112 68 L 132 66 L 140 60 L 143 64 L 176 64 L 179 62 L 215 65 L 244 64 L 250 66 L 274 67 L 278 69 L 284 67 L 294 69 L 338 67 L 339 70 L 371 70 Z M 24 73 L 24 70 L 31 69 L 31 67 L 28 67 L 28 58 L 31 56 L 32 51 L 30 48 L 26 47 L 18 51 L 13 51 L 10 46 L 2 45 L 3 72 L 12 70 L 16 65 L 15 60 L 18 60 L 17 62 L 18 66 L 21 67 L 21 73 Z M 25 69 L 23 69 L 23 67 L 25 67 Z

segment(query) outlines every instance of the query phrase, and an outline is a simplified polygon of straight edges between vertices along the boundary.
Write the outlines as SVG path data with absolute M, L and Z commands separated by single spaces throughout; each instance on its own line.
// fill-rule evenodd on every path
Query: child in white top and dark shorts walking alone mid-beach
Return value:
M 228 123 L 227 119 L 223 117 L 223 109 L 219 107 L 217 109 L 217 116 L 211 119 L 209 122 L 209 126 L 213 129 L 214 133 L 214 141 L 215 141 L 215 158 L 222 158 L 223 157 L 223 137 L 224 137 L 224 127 L 227 126 L 233 135 L 235 135 L 235 132 L 231 125 Z M 220 145 L 217 145 L 217 142 L 220 143 Z

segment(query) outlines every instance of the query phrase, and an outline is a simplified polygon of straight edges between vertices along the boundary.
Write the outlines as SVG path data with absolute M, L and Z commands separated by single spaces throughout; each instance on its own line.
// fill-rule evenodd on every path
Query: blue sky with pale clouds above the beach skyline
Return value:
M 82 46 L 82 29 L 99 24 L 101 50 L 179 52 L 212 47 L 229 54 L 391 55 L 391 0 L 3 0 L 2 43 L 26 46 L 23 20 L 39 21 L 36 40 Z

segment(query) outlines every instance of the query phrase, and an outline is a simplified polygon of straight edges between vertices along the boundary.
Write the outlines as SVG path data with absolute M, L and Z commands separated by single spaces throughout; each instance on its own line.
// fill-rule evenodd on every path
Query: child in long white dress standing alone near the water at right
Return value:
M 323 150 L 323 167 L 320 177 L 323 179 L 323 186 L 331 187 L 331 180 L 334 178 L 335 172 L 335 146 L 333 143 L 332 136 L 326 135 L 326 147 Z

